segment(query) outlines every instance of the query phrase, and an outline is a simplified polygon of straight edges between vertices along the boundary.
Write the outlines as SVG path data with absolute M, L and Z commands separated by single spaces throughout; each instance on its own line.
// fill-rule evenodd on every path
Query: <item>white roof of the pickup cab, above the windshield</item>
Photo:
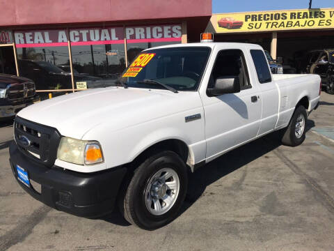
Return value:
M 175 45 L 162 45 L 158 47 L 152 47 L 144 51 L 154 50 L 154 49 L 163 49 L 163 48 L 173 48 L 173 47 L 211 47 L 211 48 L 214 48 L 216 45 L 223 45 L 223 47 L 226 47 L 226 49 L 228 48 L 250 48 L 250 49 L 262 50 L 262 47 L 260 45 L 255 45 L 251 43 L 209 42 L 209 43 L 184 43 L 184 44 L 175 44 Z

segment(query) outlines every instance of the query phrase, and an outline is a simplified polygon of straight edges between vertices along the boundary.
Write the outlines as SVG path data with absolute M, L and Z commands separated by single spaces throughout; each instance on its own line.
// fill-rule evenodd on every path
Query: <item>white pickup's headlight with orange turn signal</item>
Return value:
M 98 142 L 62 137 L 57 158 L 77 165 L 91 165 L 103 162 L 102 149 Z

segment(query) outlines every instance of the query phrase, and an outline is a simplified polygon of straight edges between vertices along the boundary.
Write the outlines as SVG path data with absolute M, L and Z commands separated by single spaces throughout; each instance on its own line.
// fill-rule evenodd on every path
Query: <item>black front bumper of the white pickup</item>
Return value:
M 115 167 L 103 172 L 84 174 L 45 167 L 26 157 L 15 142 L 10 144 L 10 166 L 13 174 L 29 195 L 57 210 L 86 218 L 97 218 L 113 211 L 118 190 L 127 172 L 125 167 Z M 17 165 L 22 167 L 40 191 L 17 178 Z

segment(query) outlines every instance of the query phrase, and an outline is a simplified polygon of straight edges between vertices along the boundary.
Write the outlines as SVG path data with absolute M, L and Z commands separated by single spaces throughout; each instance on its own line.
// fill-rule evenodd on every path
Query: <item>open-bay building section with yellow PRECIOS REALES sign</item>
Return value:
M 305 55 L 334 50 L 334 8 L 214 14 L 206 31 L 215 42 L 262 45 L 282 61 L 284 73 L 305 73 Z

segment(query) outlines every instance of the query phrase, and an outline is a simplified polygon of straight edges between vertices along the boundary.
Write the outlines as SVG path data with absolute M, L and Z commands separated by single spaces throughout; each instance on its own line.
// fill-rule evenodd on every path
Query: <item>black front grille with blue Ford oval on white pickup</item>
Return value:
M 51 167 L 56 160 L 61 135 L 55 128 L 42 126 L 16 116 L 15 140 L 20 151 L 37 162 Z

